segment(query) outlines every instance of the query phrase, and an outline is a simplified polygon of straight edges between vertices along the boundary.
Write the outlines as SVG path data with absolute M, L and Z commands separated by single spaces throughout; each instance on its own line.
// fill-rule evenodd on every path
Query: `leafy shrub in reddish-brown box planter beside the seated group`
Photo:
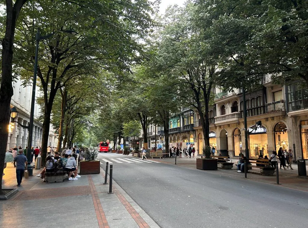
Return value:
M 79 163 L 80 175 L 100 173 L 100 161 L 96 159 L 97 155 L 96 148 L 91 150 L 86 148 L 84 153 L 85 161 L 80 161 Z

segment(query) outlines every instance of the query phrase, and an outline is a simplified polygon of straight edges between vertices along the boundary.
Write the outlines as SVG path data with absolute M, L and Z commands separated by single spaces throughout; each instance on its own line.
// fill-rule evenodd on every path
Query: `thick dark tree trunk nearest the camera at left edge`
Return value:
M 2 40 L 1 85 L 0 85 L 0 191 L 6 153 L 8 126 L 10 123 L 10 102 L 13 96 L 12 59 L 16 21 L 27 0 L 6 1 L 6 30 Z

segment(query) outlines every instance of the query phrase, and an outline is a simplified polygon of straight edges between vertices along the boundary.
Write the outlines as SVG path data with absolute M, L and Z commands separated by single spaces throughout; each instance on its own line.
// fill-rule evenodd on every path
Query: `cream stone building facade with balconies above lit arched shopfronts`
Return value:
M 245 151 L 243 102 L 246 103 L 248 151 L 250 157 L 270 156 L 272 151 L 292 149 L 295 159 L 308 159 L 308 90 L 300 83 L 276 85 L 270 76 L 264 77 L 262 86 L 245 93 L 215 89 L 215 105 L 210 110 L 210 146 L 216 153 L 230 157 Z M 198 118 L 198 114 L 195 114 Z M 257 121 L 262 126 L 255 128 Z M 199 121 L 195 121 L 197 151 L 202 154 L 204 137 Z

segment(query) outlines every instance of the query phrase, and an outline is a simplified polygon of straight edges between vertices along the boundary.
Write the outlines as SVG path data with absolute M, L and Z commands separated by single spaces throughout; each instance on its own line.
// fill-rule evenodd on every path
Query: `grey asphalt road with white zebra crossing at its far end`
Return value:
M 160 227 L 308 227 L 303 191 L 164 163 L 113 163 L 113 179 Z

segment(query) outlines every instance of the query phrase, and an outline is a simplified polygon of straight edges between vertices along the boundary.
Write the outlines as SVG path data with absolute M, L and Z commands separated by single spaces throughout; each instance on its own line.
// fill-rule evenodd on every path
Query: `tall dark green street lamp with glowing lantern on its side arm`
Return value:
M 64 33 L 69 33 L 69 34 L 77 34 L 77 32 L 75 32 L 74 30 L 60 30 Z M 33 169 L 31 166 L 31 147 L 32 147 L 32 136 L 33 136 L 33 120 L 34 120 L 34 105 L 35 105 L 35 90 L 36 90 L 36 75 L 37 75 L 37 67 L 38 67 L 38 54 L 39 54 L 39 41 L 43 40 L 43 39 L 47 39 L 49 37 L 51 37 L 52 35 L 54 35 L 55 33 L 50 33 L 46 36 L 41 36 L 40 30 L 38 29 L 37 33 L 36 33 L 36 46 L 35 46 L 35 59 L 34 59 L 34 74 L 33 74 L 33 85 L 32 85 L 32 97 L 31 97 L 31 108 L 30 108 L 30 121 L 29 121 L 29 125 L 28 126 L 24 126 L 22 124 L 19 124 L 20 126 L 22 126 L 23 128 L 27 128 L 29 130 L 29 136 L 28 136 L 28 149 L 27 149 L 27 159 L 28 159 L 28 173 L 29 176 L 33 175 Z M 12 108 L 13 109 L 13 108 Z M 11 118 L 14 121 L 14 119 L 17 117 L 18 112 L 16 110 L 16 108 L 14 108 L 13 110 L 11 109 Z M 13 118 L 15 117 L 15 118 Z

